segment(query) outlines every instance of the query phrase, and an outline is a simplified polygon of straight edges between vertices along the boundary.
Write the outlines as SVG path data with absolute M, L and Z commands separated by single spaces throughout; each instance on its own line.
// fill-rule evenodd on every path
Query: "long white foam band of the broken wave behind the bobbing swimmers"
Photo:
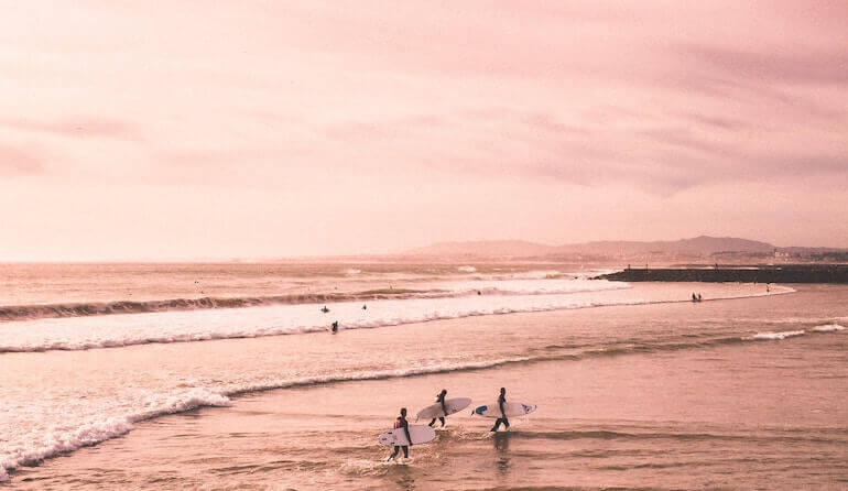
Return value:
M 598 284 L 598 286 L 604 288 L 621 287 L 620 284 L 616 283 Z M 368 310 L 362 310 L 358 303 L 340 303 L 331 305 L 331 312 L 334 313 L 333 319 L 346 319 L 340 326 L 344 330 L 486 315 L 688 302 L 639 298 L 605 301 L 574 295 L 520 295 L 508 298 L 508 301 L 504 304 L 494 304 L 486 298 L 479 298 L 477 295 L 394 303 L 387 301 Z M 11 323 L 4 328 L 6 336 L 0 341 L 0 353 L 78 351 L 148 343 L 284 336 L 327 330 L 330 317 L 312 306 L 296 305 L 281 308 L 285 308 L 285 310 L 254 310 L 254 316 L 246 316 L 241 312 L 230 310 L 226 315 L 220 312 L 196 313 L 192 314 L 191 318 L 181 317 L 186 314 L 180 313 L 168 314 L 172 316 L 168 318 L 156 319 L 135 315 L 122 317 L 120 321 L 115 323 L 107 323 L 99 318 L 89 320 L 84 318 L 51 319 L 40 321 L 35 328 L 28 321 Z

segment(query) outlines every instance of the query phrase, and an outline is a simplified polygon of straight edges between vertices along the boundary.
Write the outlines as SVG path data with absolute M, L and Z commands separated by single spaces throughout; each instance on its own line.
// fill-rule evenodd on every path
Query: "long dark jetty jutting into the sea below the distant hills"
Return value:
M 627 268 L 601 274 L 594 280 L 623 282 L 700 282 L 700 283 L 848 283 L 847 264 L 787 264 L 780 266 L 708 268 Z

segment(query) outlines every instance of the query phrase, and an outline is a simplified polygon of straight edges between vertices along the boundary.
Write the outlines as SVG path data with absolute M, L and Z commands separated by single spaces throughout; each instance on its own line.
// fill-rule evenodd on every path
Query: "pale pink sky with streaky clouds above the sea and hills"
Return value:
M 0 261 L 848 247 L 848 2 L 4 1 Z

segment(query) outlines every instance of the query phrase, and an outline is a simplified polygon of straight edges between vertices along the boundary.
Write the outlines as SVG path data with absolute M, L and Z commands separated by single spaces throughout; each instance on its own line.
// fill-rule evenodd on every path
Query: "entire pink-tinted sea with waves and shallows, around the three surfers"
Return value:
M 0 488 L 848 488 L 846 286 L 557 263 L 0 271 Z M 501 386 L 537 410 L 491 434 L 470 410 Z M 442 389 L 471 407 L 383 461 L 377 436 Z

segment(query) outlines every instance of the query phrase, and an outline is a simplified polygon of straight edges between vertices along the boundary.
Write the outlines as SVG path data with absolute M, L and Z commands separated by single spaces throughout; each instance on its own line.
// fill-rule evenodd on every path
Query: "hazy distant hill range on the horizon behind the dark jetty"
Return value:
M 439 257 L 512 257 L 539 258 L 589 254 L 595 257 L 627 257 L 635 254 L 713 255 L 717 253 L 772 253 L 776 248 L 767 242 L 733 237 L 700 236 L 671 241 L 596 241 L 565 246 L 546 246 L 522 240 L 483 240 L 470 242 L 438 242 L 413 249 L 405 254 Z

